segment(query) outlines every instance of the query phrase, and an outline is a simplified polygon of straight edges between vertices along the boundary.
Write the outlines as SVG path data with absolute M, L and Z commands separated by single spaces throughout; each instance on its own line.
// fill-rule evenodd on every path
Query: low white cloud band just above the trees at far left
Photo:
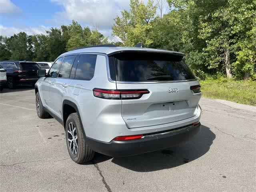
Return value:
M 45 34 L 46 30 L 49 30 L 49 27 L 46 26 L 37 26 L 37 27 L 5 27 L 0 25 L 0 35 L 2 36 L 12 36 L 13 34 L 17 34 L 19 32 L 26 32 L 28 35 L 34 34 Z

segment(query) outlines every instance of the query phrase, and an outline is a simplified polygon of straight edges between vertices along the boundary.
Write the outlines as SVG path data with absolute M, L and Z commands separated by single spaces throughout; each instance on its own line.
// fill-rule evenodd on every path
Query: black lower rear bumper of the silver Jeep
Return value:
M 102 142 L 92 138 L 86 138 L 88 146 L 101 154 L 112 157 L 134 156 L 147 152 L 162 150 L 180 142 L 190 140 L 201 129 L 201 124 L 188 125 L 174 130 L 167 130 L 166 134 L 152 133 L 147 134 L 145 138 L 130 141 L 111 141 Z

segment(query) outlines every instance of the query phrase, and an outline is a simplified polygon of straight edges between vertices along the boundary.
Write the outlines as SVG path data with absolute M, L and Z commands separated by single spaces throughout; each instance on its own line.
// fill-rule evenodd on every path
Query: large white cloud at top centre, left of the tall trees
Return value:
M 114 18 L 121 10 L 129 9 L 129 0 L 52 0 L 64 7 L 55 14 L 55 20 L 76 20 L 98 29 L 111 29 Z

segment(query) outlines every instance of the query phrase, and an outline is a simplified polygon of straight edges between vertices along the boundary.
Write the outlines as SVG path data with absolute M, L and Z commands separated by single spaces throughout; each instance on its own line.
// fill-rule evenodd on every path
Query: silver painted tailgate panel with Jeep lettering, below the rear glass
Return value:
M 194 93 L 190 86 L 193 82 L 156 83 L 156 84 L 120 84 L 117 89 L 148 89 L 135 100 L 122 100 L 122 118 L 128 128 L 153 126 L 184 120 L 196 115 L 201 93 Z M 178 92 L 169 92 L 176 89 Z

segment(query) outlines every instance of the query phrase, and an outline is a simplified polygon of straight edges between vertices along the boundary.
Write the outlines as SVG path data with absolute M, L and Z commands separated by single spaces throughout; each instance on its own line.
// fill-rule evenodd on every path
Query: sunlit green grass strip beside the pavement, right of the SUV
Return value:
M 227 78 L 201 80 L 204 97 L 256 106 L 256 82 Z

